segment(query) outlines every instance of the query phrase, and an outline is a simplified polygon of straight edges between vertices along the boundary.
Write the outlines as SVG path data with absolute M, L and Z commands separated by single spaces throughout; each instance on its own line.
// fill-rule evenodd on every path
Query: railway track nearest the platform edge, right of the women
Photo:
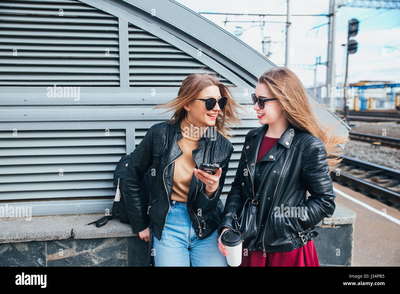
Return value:
M 356 158 L 341 156 L 332 180 L 400 209 L 400 171 Z

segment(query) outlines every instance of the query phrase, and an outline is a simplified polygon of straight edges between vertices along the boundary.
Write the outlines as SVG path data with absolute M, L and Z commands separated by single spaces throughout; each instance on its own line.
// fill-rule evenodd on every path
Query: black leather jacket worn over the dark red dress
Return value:
M 316 136 L 291 124 L 278 143 L 256 164 L 267 130 L 268 124 L 265 124 L 246 135 L 218 233 L 224 226 L 236 228 L 233 218 L 238 217 L 246 199 L 255 198 L 254 181 L 261 182 L 262 179 L 264 184 L 257 191 L 260 195 L 258 229 L 247 248 L 264 253 L 292 251 L 318 234 L 312 229 L 322 218 L 332 216 L 336 195 L 324 144 Z M 307 190 L 311 194 L 308 199 Z M 296 216 L 294 212 L 300 215 Z M 305 220 L 301 220 L 302 217 Z

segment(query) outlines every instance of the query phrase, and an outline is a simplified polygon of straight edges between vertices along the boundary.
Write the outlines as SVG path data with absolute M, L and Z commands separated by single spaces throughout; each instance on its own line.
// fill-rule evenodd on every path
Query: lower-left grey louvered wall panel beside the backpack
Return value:
M 14 126 L 12 136 L 0 131 L 0 195 L 7 200 L 110 198 L 116 162 L 134 142 L 125 122 Z

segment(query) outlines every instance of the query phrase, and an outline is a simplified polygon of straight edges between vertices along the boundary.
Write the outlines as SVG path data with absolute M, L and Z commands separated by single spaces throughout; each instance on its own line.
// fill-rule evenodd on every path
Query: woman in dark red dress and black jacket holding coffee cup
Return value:
M 246 135 L 218 227 L 218 248 L 226 256 L 221 236 L 239 229 L 241 266 L 319 266 L 313 229 L 335 210 L 329 172 L 341 160 L 338 144 L 348 138 L 314 115 L 306 90 L 288 68 L 266 70 L 252 102 L 262 126 Z M 245 205 L 257 211 L 255 221 L 242 213 Z

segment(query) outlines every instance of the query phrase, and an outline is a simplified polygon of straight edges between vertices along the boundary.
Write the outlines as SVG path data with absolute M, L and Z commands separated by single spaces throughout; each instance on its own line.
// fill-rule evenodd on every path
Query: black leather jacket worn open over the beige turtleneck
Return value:
M 126 168 L 122 194 L 132 229 L 138 233 L 146 229 L 151 220 L 152 231 L 161 240 L 166 217 L 170 209 L 174 161 L 182 156 L 178 146 L 182 139 L 181 120 L 168 125 L 168 121 L 154 124 L 135 148 Z M 212 234 L 221 221 L 224 206 L 220 194 L 224 186 L 228 163 L 232 155 L 232 143 L 220 133 L 208 128 L 199 139 L 199 147 L 193 150 L 196 168 L 204 163 L 219 164 L 222 174 L 214 197 L 204 194 L 205 184 L 193 175 L 188 192 L 188 214 L 196 234 L 204 239 Z M 143 198 L 140 182 L 150 168 L 151 180 L 149 201 Z M 216 245 L 217 246 L 217 245 Z

